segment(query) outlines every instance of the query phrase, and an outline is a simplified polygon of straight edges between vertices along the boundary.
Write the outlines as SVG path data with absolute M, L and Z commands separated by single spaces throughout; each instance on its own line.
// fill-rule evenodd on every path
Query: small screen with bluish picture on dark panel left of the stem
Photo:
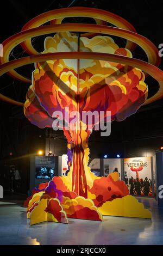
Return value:
M 53 167 L 36 167 L 35 178 L 36 179 L 52 179 L 55 175 Z

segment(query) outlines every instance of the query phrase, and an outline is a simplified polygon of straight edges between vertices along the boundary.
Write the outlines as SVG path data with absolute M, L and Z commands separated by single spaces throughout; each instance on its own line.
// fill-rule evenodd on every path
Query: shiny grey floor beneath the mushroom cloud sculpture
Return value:
M 155 199 L 141 199 L 152 221 L 105 216 L 103 222 L 69 219 L 27 227 L 22 201 L 0 200 L 0 245 L 163 245 L 163 209 Z

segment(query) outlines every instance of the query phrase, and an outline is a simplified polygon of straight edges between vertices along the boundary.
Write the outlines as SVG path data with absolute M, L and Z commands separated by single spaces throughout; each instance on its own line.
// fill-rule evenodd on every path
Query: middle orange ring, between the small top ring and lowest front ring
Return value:
M 88 25 L 85 27 L 85 24 L 62 24 L 62 25 L 51 25 L 51 26 L 42 26 L 39 28 L 33 28 L 28 29 L 27 31 L 23 31 L 20 33 L 17 33 L 7 40 L 3 42 L 3 51 L 4 56 L 1 57 L 1 63 L 5 63 L 9 61 L 9 55 L 12 49 L 20 44 L 22 41 L 26 40 L 27 38 L 32 38 L 33 36 L 38 35 L 44 35 L 48 33 L 54 33 L 54 32 L 65 32 L 65 31 L 86 31 L 86 32 L 93 32 L 93 33 L 103 33 L 103 34 L 109 34 L 109 35 L 116 35 L 120 36 L 121 38 L 133 41 L 137 45 L 143 48 L 143 50 L 146 52 L 149 63 L 158 66 L 160 63 L 160 57 L 158 54 L 158 49 L 155 47 L 155 45 L 145 38 L 145 36 L 136 34 L 131 31 L 126 31 L 125 29 L 115 28 L 115 27 L 107 27 L 102 25 Z M 28 49 L 28 52 L 30 50 L 30 54 L 38 54 L 35 50 L 33 50 L 33 47 Z M 1 68 L 1 66 L 0 66 Z M 16 78 L 17 80 L 20 80 L 22 82 L 31 83 L 31 80 L 29 78 L 26 78 L 20 74 L 18 74 L 15 70 L 9 71 L 9 75 Z

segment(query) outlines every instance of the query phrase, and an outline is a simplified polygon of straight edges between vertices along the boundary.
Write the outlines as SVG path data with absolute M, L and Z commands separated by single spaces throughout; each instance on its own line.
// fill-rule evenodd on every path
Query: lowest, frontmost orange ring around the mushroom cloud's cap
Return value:
M 151 75 L 155 80 L 159 82 L 160 88 L 158 92 L 152 96 L 151 98 L 147 99 L 143 105 L 147 105 L 152 103 L 155 100 L 159 100 L 163 94 L 163 71 L 161 71 L 156 66 L 143 62 L 143 60 L 133 59 L 129 57 L 124 57 L 116 54 L 107 54 L 107 53 L 95 53 L 95 52 L 57 52 L 57 53 L 46 53 L 46 54 L 38 54 L 29 57 L 23 57 L 17 60 L 11 60 L 8 63 L 4 63 L 1 65 L 0 76 L 5 74 L 11 69 L 19 68 L 20 66 L 35 63 L 35 62 L 45 62 L 51 59 L 98 59 L 98 60 L 105 60 L 108 62 L 116 62 L 121 63 L 124 65 L 135 66 L 149 75 Z M 22 105 L 23 103 L 14 101 L 9 97 L 6 97 L 0 94 L 0 99 L 3 101 L 7 101 L 10 103 L 14 103 L 16 105 Z

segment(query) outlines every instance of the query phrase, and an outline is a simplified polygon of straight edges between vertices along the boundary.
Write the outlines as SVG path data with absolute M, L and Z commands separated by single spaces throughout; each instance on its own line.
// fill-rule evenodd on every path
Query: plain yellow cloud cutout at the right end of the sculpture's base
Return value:
M 98 210 L 102 215 L 152 218 L 151 211 L 145 209 L 143 204 L 139 203 L 133 196 L 116 198 L 111 202 L 107 201 Z

